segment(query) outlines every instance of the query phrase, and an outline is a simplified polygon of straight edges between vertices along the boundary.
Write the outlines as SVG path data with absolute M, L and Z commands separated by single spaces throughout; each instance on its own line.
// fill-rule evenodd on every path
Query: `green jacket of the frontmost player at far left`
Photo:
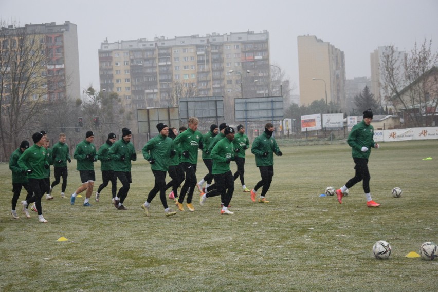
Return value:
M 18 160 L 18 164 L 20 168 L 25 170 L 32 169 L 33 172 L 27 175 L 28 179 L 45 179 L 46 168 L 44 165 L 49 165 L 46 148 L 33 144 L 23 152 Z

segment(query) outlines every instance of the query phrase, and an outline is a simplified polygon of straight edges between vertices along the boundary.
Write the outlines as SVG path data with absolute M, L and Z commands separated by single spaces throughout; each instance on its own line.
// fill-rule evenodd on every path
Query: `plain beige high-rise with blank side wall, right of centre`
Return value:
M 301 105 L 323 99 L 345 112 L 343 51 L 314 35 L 298 36 L 298 67 Z

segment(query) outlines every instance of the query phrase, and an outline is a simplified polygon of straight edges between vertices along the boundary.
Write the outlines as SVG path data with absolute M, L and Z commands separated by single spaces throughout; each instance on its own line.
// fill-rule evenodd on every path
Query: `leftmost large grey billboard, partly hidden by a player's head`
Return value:
M 138 133 L 157 132 L 156 125 L 165 123 L 169 127 L 179 128 L 177 107 L 137 109 Z

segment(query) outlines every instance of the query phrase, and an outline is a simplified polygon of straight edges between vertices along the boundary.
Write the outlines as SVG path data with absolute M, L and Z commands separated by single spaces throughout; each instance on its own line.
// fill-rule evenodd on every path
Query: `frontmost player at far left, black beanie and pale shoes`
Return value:
M 38 220 L 41 223 L 47 223 L 47 220 L 43 217 L 43 208 L 41 206 L 41 198 L 46 189 L 44 181 L 45 170 L 50 168 L 50 165 L 47 163 L 47 151 L 43 147 L 46 140 L 40 132 L 33 133 L 32 140 L 34 143 L 33 146 L 23 152 L 18 160 L 18 165 L 23 170 L 26 170 L 29 187 L 33 191 L 34 196 L 27 198 L 25 201 L 21 201 L 21 203 L 23 205 L 23 213 L 29 218 L 30 215 L 27 206 L 35 202 Z

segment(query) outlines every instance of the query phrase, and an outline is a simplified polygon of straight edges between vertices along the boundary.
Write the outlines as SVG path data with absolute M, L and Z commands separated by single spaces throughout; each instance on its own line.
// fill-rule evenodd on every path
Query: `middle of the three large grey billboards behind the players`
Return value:
M 187 120 L 191 116 L 198 119 L 213 121 L 224 120 L 224 97 L 223 96 L 195 96 L 192 98 L 179 99 L 179 114 L 181 120 Z

